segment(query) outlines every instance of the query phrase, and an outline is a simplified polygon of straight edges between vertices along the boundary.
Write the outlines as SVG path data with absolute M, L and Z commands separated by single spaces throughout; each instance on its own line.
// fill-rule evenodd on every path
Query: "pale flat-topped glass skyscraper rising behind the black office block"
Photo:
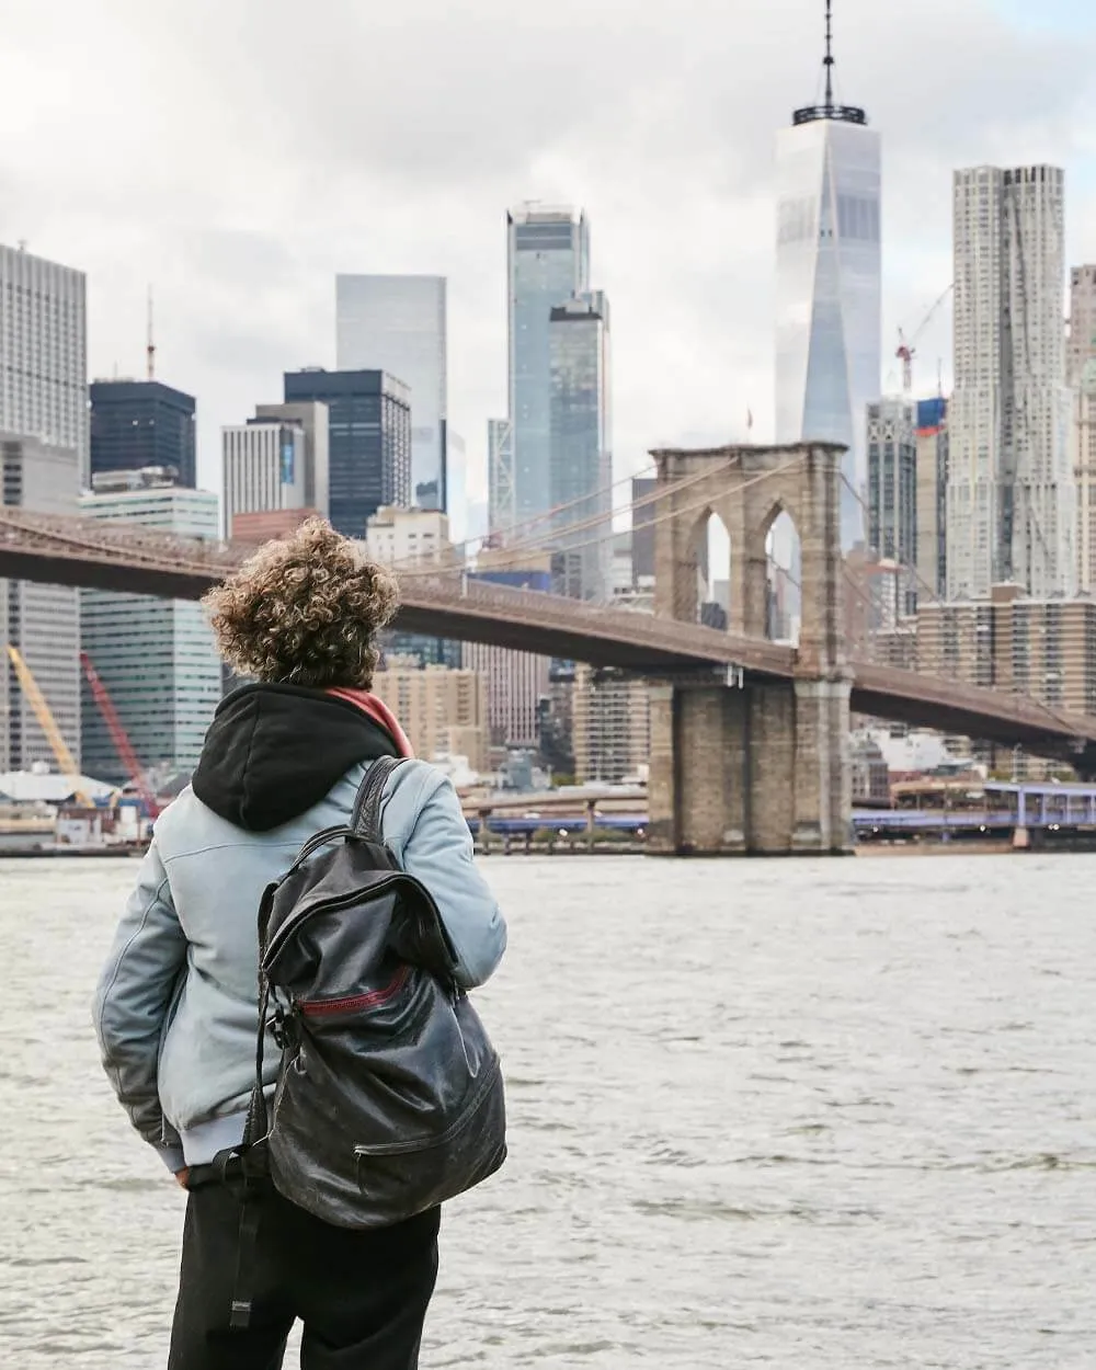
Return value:
M 411 489 L 436 486 L 449 511 L 444 275 L 336 277 L 336 366 L 397 377 L 411 390 Z

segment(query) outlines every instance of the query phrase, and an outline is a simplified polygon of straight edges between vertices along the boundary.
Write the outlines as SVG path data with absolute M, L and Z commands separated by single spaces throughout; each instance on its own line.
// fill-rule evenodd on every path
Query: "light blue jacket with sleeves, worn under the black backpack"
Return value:
M 266 886 L 316 832 L 347 823 L 367 766 L 292 822 L 253 833 L 185 789 L 156 821 L 95 999 L 103 1064 L 133 1126 L 175 1171 L 240 1143 L 255 1080 L 258 910 Z M 459 959 L 481 985 L 506 949 L 506 923 L 473 864 L 448 780 L 408 762 L 385 786 L 381 830 L 399 864 L 437 901 Z M 267 1085 L 278 1049 L 269 1043 Z

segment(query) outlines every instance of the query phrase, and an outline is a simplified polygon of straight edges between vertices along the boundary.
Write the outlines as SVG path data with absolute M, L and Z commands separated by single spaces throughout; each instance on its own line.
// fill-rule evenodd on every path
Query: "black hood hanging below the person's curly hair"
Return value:
M 244 685 L 221 701 L 190 780 L 203 804 L 267 833 L 319 803 L 359 762 L 399 756 L 348 700 L 297 685 Z

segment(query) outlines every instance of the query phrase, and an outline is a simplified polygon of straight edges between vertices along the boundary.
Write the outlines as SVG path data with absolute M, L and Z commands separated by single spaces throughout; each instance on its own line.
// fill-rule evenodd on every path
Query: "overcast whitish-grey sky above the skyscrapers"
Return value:
M 506 400 L 507 206 L 582 204 L 612 308 L 616 474 L 771 434 L 773 147 L 819 89 L 822 0 L 7 0 L 0 241 L 89 277 L 93 375 L 222 423 L 334 366 L 337 271 L 449 278 L 449 411 Z M 1066 167 L 1096 259 L 1092 0 L 836 0 L 838 95 L 884 138 L 884 344 L 951 279 L 951 170 Z M 915 386 L 936 388 L 947 311 Z

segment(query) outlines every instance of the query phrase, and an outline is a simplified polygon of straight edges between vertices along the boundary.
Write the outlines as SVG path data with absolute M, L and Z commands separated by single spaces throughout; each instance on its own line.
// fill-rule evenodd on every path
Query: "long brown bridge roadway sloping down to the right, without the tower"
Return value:
M 126 523 L 0 508 L 0 577 L 199 599 L 253 551 Z M 712 670 L 790 680 L 797 652 L 649 614 L 470 580 L 459 571 L 403 577 L 399 625 L 593 666 L 681 678 Z M 867 660 L 848 663 L 852 708 L 1037 755 L 1096 774 L 1096 717 L 1051 711 L 1019 695 L 963 685 Z

